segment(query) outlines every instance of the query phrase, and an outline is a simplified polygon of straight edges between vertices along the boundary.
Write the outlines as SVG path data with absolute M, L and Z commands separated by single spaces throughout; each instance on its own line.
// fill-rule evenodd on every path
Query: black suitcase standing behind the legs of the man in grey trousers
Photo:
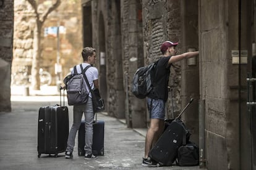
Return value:
M 97 113 L 95 113 L 97 114 Z M 93 144 L 92 144 L 92 153 L 93 155 L 103 156 L 104 155 L 104 128 L 105 122 L 102 120 L 96 119 L 93 123 Z M 78 153 L 79 156 L 85 155 L 85 121 L 81 122 L 79 127 L 79 139 L 78 139 Z

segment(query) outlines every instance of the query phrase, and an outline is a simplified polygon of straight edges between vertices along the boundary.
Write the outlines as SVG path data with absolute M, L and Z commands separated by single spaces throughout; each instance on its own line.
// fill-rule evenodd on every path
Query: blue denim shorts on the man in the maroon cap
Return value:
M 150 119 L 164 119 L 164 100 L 147 98 Z

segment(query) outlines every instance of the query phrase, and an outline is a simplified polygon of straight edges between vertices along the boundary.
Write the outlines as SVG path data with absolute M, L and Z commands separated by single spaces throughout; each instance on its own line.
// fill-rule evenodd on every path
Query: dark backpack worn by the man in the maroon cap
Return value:
M 158 61 L 148 66 L 140 67 L 134 73 L 132 79 L 132 94 L 139 99 L 144 99 L 153 89 L 153 78 L 155 76 Z

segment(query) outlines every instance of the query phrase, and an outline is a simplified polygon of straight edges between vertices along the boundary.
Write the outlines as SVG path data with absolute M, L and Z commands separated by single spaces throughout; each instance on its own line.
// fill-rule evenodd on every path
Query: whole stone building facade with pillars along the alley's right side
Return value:
M 171 68 L 174 109 L 169 94 L 166 112 L 175 116 L 194 98 L 182 119 L 200 146 L 200 167 L 255 169 L 255 109 L 246 106 L 248 94 L 255 98 L 246 83 L 255 68 L 254 1 L 83 0 L 82 6 L 83 20 L 90 21 L 83 41 L 98 51 L 109 115 L 126 118 L 128 127 L 147 127 L 145 100 L 130 92 L 134 72 L 161 57 L 167 39 L 179 42 L 178 53 L 199 49 L 198 57 Z

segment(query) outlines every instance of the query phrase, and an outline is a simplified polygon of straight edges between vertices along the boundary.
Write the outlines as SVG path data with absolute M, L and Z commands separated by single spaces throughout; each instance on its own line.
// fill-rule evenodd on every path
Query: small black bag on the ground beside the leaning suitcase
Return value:
M 197 166 L 199 164 L 199 148 L 194 142 L 187 142 L 178 149 L 177 164 L 179 166 Z

